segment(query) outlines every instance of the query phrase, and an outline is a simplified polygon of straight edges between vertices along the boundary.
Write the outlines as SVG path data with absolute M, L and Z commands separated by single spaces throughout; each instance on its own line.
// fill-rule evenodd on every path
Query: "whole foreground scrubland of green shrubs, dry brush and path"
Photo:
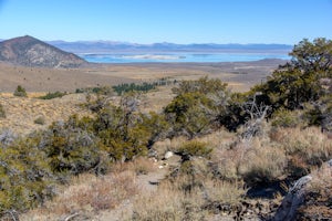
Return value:
M 331 41 L 292 55 L 247 92 L 206 76 L 122 95 L 1 95 L 1 219 L 273 220 L 307 175 L 297 219 L 331 218 Z M 11 130 L 23 120 L 31 130 Z

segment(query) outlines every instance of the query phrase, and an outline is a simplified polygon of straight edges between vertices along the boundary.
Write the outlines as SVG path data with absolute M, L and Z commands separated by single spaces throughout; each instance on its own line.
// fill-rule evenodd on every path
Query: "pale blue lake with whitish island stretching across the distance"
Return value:
M 94 63 L 250 62 L 263 59 L 290 59 L 287 53 L 136 53 L 79 55 L 86 61 Z

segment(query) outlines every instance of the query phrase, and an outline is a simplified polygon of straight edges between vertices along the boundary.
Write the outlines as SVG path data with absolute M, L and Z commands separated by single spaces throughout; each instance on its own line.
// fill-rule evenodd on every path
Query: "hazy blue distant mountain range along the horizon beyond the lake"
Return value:
M 136 44 L 112 41 L 49 41 L 64 51 L 72 53 L 129 53 L 129 52 L 280 52 L 288 53 L 292 45 L 288 44 L 174 44 L 154 43 Z

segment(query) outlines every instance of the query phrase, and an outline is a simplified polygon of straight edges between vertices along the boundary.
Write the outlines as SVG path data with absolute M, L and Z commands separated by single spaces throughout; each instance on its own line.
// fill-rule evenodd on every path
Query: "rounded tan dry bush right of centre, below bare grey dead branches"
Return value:
M 212 172 L 221 180 L 245 179 L 248 185 L 278 180 L 284 173 L 287 158 L 283 149 L 266 137 L 239 141 L 229 149 L 212 154 Z

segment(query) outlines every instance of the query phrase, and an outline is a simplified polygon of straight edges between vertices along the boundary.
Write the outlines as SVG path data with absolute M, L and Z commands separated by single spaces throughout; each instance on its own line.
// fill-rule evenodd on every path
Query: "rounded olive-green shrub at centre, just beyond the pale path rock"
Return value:
M 184 81 L 174 93 L 177 96 L 164 109 L 174 136 L 194 138 L 211 131 L 229 102 L 227 84 L 207 77 Z

